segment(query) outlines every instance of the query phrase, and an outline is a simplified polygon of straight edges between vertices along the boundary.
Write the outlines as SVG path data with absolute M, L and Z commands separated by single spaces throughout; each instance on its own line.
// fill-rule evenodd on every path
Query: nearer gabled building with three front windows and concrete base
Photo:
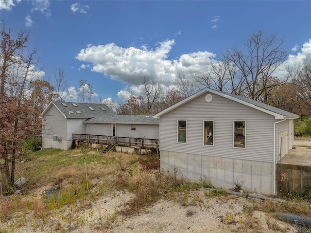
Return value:
M 160 119 L 160 168 L 192 181 L 276 194 L 276 163 L 294 143 L 297 115 L 204 89 L 154 116 Z

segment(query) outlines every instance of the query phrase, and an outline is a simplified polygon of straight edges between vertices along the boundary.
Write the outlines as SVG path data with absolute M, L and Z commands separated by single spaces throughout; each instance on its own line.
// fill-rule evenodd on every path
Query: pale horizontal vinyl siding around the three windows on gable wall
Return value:
M 222 96 L 211 95 L 211 102 L 207 102 L 206 94 L 203 94 L 160 117 L 160 150 L 272 162 L 275 117 Z M 187 120 L 187 144 L 176 143 L 180 116 Z M 214 128 L 217 129 L 214 146 L 208 150 L 202 145 L 202 122 L 207 116 L 215 119 Z M 237 119 L 247 122 L 247 148 L 243 150 L 232 147 L 232 122 Z

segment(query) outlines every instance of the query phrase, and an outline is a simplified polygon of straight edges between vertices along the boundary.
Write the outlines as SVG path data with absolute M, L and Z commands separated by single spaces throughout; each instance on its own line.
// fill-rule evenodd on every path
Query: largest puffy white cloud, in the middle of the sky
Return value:
M 201 72 L 215 54 L 196 52 L 169 59 L 175 41 L 158 42 L 155 48 L 122 48 L 114 43 L 88 46 L 76 59 L 90 63 L 91 71 L 110 76 L 112 80 L 130 85 L 140 85 L 144 77 L 168 86 L 173 84 L 178 73 Z M 121 95 L 121 94 L 120 94 Z

